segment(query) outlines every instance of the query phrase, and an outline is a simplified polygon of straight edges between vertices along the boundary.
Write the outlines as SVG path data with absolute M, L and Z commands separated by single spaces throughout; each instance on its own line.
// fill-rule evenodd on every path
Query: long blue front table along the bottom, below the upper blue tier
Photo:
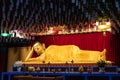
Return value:
M 84 80 L 88 80 L 88 77 L 92 77 L 92 76 L 99 76 L 99 77 L 107 77 L 108 80 L 113 80 L 113 77 L 118 77 L 118 79 L 120 79 L 120 74 L 119 73 L 99 73 L 99 72 L 92 72 L 92 73 L 88 73 L 88 72 L 3 72 L 2 73 L 2 79 L 1 80 L 6 80 L 5 78 L 7 77 L 7 80 L 12 80 L 12 76 L 15 75 L 33 75 L 35 77 L 37 76 L 63 76 L 63 80 L 66 80 L 66 77 L 69 76 L 83 76 Z

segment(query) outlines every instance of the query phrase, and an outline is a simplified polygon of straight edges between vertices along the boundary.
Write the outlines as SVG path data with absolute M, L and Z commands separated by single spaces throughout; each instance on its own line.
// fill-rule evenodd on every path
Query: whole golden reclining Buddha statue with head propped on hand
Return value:
M 32 57 L 33 53 L 37 57 Z M 98 60 L 106 60 L 106 49 L 102 52 L 93 50 L 81 50 L 76 45 L 50 45 L 45 48 L 44 43 L 37 42 L 28 53 L 25 63 L 96 63 Z

